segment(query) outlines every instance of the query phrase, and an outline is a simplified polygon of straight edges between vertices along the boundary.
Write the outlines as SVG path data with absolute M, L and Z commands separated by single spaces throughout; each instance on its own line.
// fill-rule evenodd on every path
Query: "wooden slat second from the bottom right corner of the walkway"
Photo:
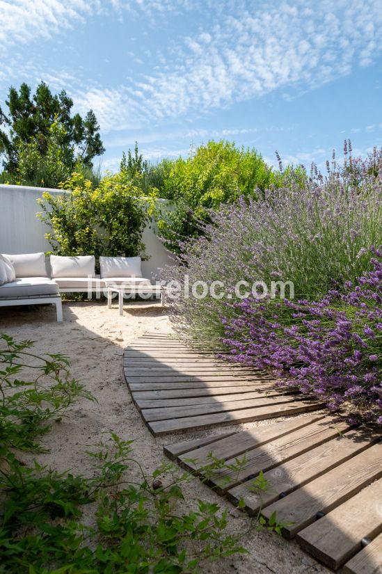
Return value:
M 382 480 L 374 482 L 297 535 L 304 550 L 337 570 L 382 532 Z

